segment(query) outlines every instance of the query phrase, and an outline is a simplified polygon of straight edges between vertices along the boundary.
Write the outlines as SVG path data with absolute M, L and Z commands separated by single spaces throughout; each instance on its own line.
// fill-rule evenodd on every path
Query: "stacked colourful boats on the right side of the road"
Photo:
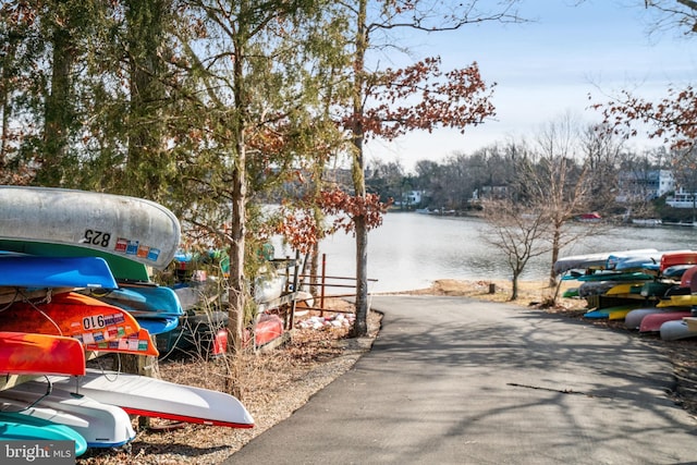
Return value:
M 624 320 L 667 341 L 697 338 L 697 250 L 635 249 L 570 256 L 554 272 L 574 280 L 589 319 Z

